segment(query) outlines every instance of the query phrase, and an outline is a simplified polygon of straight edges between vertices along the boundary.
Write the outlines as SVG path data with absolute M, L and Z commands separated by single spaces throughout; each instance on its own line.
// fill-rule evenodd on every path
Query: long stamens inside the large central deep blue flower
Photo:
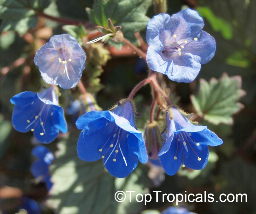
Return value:
M 107 125 L 108 125 L 108 123 L 106 124 L 106 126 L 107 126 Z M 113 154 L 114 151 L 115 151 L 115 157 L 114 157 L 113 161 L 116 162 L 116 155 L 117 155 L 117 153 L 119 152 L 119 150 L 120 150 L 120 152 L 121 152 L 121 154 L 122 154 L 122 156 L 123 156 L 124 163 L 125 163 L 125 165 L 127 166 L 127 162 L 126 162 L 126 160 L 125 160 L 125 157 L 124 157 L 123 151 L 122 151 L 122 149 L 121 149 L 121 145 L 120 145 L 120 138 L 121 138 L 123 129 L 121 129 L 120 127 L 117 127 L 117 129 L 116 129 L 116 127 L 117 127 L 117 126 L 115 125 L 114 128 L 113 128 L 113 131 L 111 132 L 111 134 L 110 134 L 110 136 L 109 136 L 109 138 L 108 138 L 108 140 L 107 140 L 106 143 L 103 145 L 103 147 L 101 147 L 101 148 L 99 149 L 99 152 L 102 152 L 103 149 L 104 149 L 104 147 L 105 147 L 107 144 L 109 144 L 109 143 L 108 143 L 109 140 L 110 140 L 111 138 L 114 138 L 113 141 L 110 143 L 109 147 L 107 148 L 105 154 L 101 156 L 102 159 L 105 159 L 105 155 L 108 153 L 108 151 L 109 151 L 110 149 L 113 148 L 112 151 L 110 152 L 110 154 L 108 155 L 106 161 L 104 162 L 104 164 L 103 164 L 104 166 L 105 166 L 105 164 L 107 163 L 108 159 L 110 158 L 110 156 Z M 115 133 L 114 133 L 114 132 L 115 132 Z M 128 135 L 129 135 L 129 134 L 128 134 Z M 128 135 L 127 135 L 127 137 L 128 137 Z M 116 143 L 115 143 L 115 142 L 116 142 Z M 115 145 L 114 145 L 114 144 L 115 144 Z M 119 150 L 118 150 L 118 149 L 119 149 Z

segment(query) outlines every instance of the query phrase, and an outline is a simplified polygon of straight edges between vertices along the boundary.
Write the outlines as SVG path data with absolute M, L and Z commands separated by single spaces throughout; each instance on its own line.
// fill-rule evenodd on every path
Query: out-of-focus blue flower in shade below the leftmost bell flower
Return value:
M 52 187 L 49 165 L 54 160 L 52 152 L 44 146 L 36 146 L 32 150 L 37 160 L 32 164 L 30 171 L 38 182 L 45 182 L 48 191 Z

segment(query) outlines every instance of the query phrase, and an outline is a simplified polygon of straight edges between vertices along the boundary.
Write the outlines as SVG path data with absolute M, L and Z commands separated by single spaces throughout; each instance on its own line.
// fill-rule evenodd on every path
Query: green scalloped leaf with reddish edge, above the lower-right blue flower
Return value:
M 226 73 L 219 80 L 212 78 L 209 83 L 200 79 L 198 95 L 190 97 L 196 113 L 215 125 L 232 124 L 232 115 L 244 107 L 237 102 L 246 94 L 241 86 L 241 76 L 229 77 Z

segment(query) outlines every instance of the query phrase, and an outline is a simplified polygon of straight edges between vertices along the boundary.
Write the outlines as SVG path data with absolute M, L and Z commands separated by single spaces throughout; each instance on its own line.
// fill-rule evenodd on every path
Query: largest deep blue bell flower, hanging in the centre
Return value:
M 77 153 L 84 161 L 103 159 L 109 173 L 118 178 L 129 175 L 138 160 L 148 161 L 142 133 L 134 123 L 132 104 L 127 101 L 113 111 L 91 111 L 76 121 L 83 129 L 77 142 Z

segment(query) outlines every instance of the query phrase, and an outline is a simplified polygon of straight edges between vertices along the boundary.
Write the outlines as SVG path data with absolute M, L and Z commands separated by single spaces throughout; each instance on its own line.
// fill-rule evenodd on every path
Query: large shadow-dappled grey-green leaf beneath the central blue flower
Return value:
M 77 213 L 138 213 L 142 203 L 129 202 L 128 195 L 122 203 L 116 202 L 117 191 L 147 191 L 148 178 L 145 168 L 137 167 L 127 178 L 111 176 L 103 166 L 102 160 L 85 162 L 78 158 L 76 132 L 58 143 L 56 160 L 51 166 L 54 183 L 47 203 L 60 214 Z

